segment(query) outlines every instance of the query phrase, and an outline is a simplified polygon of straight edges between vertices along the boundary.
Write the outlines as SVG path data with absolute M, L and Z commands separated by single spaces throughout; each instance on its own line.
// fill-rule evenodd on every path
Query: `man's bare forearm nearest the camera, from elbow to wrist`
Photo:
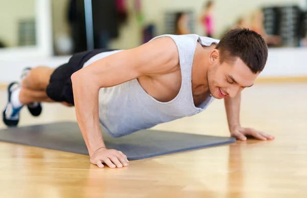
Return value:
M 89 153 L 105 147 L 99 123 L 98 95 L 96 87 L 86 75 L 72 75 L 76 117 Z

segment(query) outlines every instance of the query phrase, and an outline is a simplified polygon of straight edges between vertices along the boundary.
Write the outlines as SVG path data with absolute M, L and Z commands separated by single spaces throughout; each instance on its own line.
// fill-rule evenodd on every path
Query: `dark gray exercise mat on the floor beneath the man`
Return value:
M 230 137 L 149 129 L 140 130 L 121 138 L 113 138 L 106 131 L 102 133 L 106 147 L 122 151 L 128 160 L 139 160 L 235 142 L 235 139 Z M 0 130 L 0 141 L 89 155 L 76 122 L 5 128 Z

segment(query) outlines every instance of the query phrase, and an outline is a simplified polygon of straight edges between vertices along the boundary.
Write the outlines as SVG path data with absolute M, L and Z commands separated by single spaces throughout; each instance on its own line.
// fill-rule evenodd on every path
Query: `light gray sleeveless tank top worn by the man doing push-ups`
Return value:
M 196 34 L 161 35 L 153 39 L 163 36 L 172 38 L 178 48 L 182 76 L 179 94 L 169 102 L 160 102 L 148 95 L 137 79 L 100 89 L 99 120 L 111 136 L 121 137 L 160 123 L 198 114 L 213 101 L 213 97 L 209 96 L 199 106 L 194 105 L 191 71 L 196 43 L 210 46 L 219 40 Z M 122 50 L 97 54 L 85 62 L 83 67 L 120 51 Z

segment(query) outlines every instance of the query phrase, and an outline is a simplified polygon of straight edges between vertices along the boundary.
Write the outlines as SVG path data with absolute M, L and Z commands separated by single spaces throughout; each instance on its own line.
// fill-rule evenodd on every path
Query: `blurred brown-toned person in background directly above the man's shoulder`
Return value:
M 189 29 L 189 14 L 184 12 L 179 12 L 176 14 L 175 19 L 175 34 L 184 35 L 190 34 L 191 31 Z

